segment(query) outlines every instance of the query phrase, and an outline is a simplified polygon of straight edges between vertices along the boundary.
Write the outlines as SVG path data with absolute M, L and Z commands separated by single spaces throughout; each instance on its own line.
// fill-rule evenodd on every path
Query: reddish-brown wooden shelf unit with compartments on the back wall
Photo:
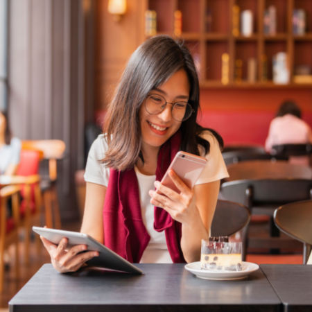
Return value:
M 251 10 L 253 30 L 250 36 L 233 35 L 232 6 Z M 275 6 L 276 34 L 268 35 L 264 29 L 264 11 Z M 174 12 L 182 12 L 182 33 L 179 36 L 196 54 L 200 70 L 200 86 L 204 88 L 241 88 L 241 89 L 308 89 L 311 84 L 295 84 L 291 81 L 298 67 L 306 65 L 312 70 L 312 1 L 308 0 L 146 0 L 146 8 L 157 12 L 157 33 L 174 35 Z M 293 34 L 293 10 L 304 9 L 306 14 L 306 33 Z M 240 18 L 240 15 L 239 15 Z M 241 21 L 240 21 L 241 22 Z M 287 54 L 290 83 L 272 83 L 272 58 L 279 52 Z M 229 84 L 221 81 L 223 53 L 229 55 Z M 263 56 L 265 55 L 265 57 Z M 256 83 L 248 83 L 248 67 L 256 64 Z M 241 65 L 239 65 L 241 64 Z M 239 68 L 239 66 L 241 66 Z M 234 83 L 241 75 L 241 83 Z M 268 82 L 263 83 L 263 76 Z M 253 80 L 253 79 L 249 79 Z

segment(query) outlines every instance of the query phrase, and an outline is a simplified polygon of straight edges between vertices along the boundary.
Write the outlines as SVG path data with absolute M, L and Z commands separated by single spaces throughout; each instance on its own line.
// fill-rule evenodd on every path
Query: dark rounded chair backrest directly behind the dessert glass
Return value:
M 211 223 L 211 236 L 230 236 L 248 225 L 250 212 L 237 202 L 218 200 Z

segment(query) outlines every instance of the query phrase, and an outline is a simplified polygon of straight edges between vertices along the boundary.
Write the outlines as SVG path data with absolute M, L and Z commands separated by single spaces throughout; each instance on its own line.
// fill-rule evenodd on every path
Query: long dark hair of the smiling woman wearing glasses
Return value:
M 198 144 L 201 144 L 206 153 L 209 152 L 209 142 L 199 136 L 205 128 L 196 123 L 200 89 L 191 53 L 181 42 L 159 35 L 146 40 L 131 55 L 108 107 L 103 129 L 108 141 L 108 150 L 103 159 L 107 166 L 124 170 L 135 165 L 141 152 L 139 109 L 151 89 L 165 83 L 180 69 L 184 69 L 189 78 L 189 103 L 194 110 L 180 127 L 181 150 L 199 155 Z M 220 135 L 209 130 L 222 148 Z

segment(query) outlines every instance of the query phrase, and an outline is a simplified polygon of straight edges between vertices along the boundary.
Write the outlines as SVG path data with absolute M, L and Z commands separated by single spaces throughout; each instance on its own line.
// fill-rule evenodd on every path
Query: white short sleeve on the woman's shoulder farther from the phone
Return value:
M 107 150 L 107 140 L 104 135 L 98 135 L 94 140 L 85 167 L 85 181 L 101 184 L 107 187 L 110 178 L 110 168 L 102 162 Z

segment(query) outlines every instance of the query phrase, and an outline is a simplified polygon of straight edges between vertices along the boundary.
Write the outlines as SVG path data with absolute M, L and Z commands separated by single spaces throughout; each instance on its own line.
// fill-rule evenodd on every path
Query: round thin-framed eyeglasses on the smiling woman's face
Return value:
M 187 102 L 179 101 L 175 103 L 167 102 L 164 96 L 159 94 L 149 94 L 144 103 L 146 112 L 151 115 L 157 115 L 164 111 L 167 104 L 172 105 L 172 116 L 176 121 L 186 121 L 191 117 L 194 110 Z

